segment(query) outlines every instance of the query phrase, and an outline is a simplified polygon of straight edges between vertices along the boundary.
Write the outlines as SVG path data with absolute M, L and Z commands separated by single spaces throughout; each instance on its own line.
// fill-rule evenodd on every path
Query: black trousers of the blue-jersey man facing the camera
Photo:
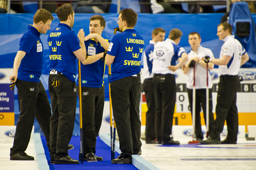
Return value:
M 76 89 L 79 87 L 76 86 Z M 100 88 L 83 86 L 81 90 L 84 155 L 89 152 L 96 153 L 96 137 L 100 131 L 105 102 L 104 89 L 105 85 Z

